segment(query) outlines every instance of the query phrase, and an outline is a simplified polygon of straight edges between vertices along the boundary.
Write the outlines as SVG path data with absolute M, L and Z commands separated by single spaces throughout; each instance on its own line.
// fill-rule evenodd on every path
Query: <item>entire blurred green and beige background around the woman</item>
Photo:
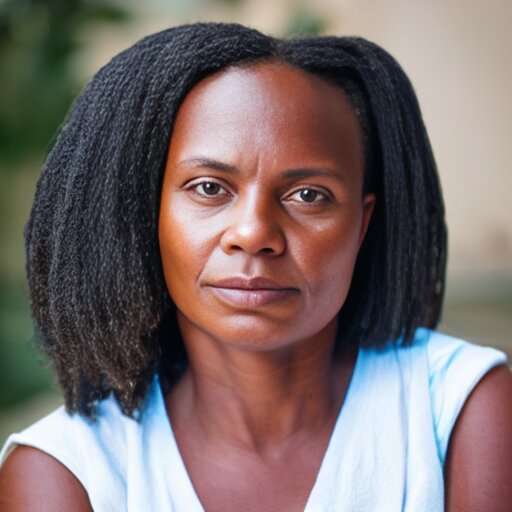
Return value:
M 34 349 L 23 227 L 39 168 L 84 83 L 152 32 L 193 21 L 360 35 L 416 89 L 449 227 L 441 329 L 512 356 L 512 2 L 0 0 L 0 443 L 60 403 Z

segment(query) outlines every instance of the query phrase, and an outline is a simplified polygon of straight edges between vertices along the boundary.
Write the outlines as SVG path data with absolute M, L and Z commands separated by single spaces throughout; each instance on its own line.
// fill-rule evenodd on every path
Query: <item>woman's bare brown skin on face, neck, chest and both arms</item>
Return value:
M 304 510 L 356 357 L 333 345 L 375 203 L 362 155 L 344 93 L 287 65 L 225 70 L 180 107 L 159 238 L 190 366 L 167 411 L 209 512 Z M 500 367 L 452 434 L 447 510 L 512 510 L 511 432 Z M 81 484 L 16 448 L 0 511 L 61 509 L 91 510 Z

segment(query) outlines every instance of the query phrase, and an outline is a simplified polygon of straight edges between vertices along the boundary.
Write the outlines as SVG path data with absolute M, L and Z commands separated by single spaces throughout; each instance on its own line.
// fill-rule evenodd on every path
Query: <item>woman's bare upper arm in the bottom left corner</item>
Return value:
M 0 469 L 0 512 L 91 512 L 85 489 L 50 455 L 17 446 Z

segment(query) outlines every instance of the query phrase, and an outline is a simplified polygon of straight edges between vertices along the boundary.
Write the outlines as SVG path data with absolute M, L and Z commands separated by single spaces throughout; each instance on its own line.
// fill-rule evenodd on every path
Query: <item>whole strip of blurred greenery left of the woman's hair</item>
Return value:
M 0 0 L 0 418 L 52 385 L 34 347 L 23 271 L 37 167 L 83 85 L 72 62 L 84 30 L 128 19 L 107 0 Z

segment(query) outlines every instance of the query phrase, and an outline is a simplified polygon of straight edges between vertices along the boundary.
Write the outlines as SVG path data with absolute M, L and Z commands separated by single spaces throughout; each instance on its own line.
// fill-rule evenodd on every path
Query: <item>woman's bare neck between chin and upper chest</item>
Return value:
M 314 339 L 256 351 L 223 344 L 180 318 L 189 369 L 171 392 L 172 423 L 259 452 L 333 425 L 355 353 L 333 358 L 336 321 Z

